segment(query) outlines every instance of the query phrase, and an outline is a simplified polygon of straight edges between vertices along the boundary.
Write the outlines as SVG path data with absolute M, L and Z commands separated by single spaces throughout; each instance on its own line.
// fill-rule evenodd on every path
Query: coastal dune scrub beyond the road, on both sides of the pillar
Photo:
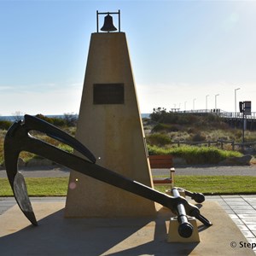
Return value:
M 38 117 L 59 126 L 61 130 L 67 131 L 72 136 L 75 134 L 76 119 L 73 118 L 73 115 L 67 114 L 64 120 L 49 119 L 43 115 L 38 115 Z M 0 165 L 3 165 L 3 140 L 9 125 L 11 125 L 11 122 L 0 120 Z M 203 147 L 207 146 L 207 144 L 202 144 L 201 148 L 188 146 L 177 148 L 177 142 L 195 143 L 217 140 L 241 142 L 241 130 L 231 129 L 222 119 L 214 114 L 197 116 L 193 114 L 167 113 L 164 108 L 157 108 L 151 113 L 150 119 L 143 119 L 143 125 L 148 143 L 148 151 L 152 154 L 155 154 L 155 152 L 158 152 L 158 154 L 160 152 L 165 154 L 186 154 L 188 159 L 197 158 L 203 159 L 203 161 L 216 161 L 217 159 L 223 160 L 225 157 L 230 157 L 232 154 L 236 155 L 236 152 L 217 152 L 217 148 Z M 58 148 L 72 152 L 72 148 L 42 133 L 33 132 L 32 135 Z M 245 138 L 247 142 L 256 142 L 256 131 L 246 131 Z M 212 146 L 216 145 L 212 144 Z M 176 153 L 173 151 L 174 149 Z M 224 149 L 231 150 L 231 144 L 224 144 Z M 253 149 L 255 148 L 251 149 L 252 154 L 254 154 L 255 150 L 253 151 Z M 27 161 L 35 156 L 22 152 L 20 157 Z

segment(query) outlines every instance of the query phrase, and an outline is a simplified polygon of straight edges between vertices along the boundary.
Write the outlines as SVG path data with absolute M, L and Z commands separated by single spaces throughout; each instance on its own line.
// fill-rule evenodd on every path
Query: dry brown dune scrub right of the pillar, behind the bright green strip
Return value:
M 174 142 L 214 142 L 218 140 L 241 143 L 241 129 L 230 128 L 214 113 L 166 112 L 156 108 L 150 119 L 143 120 L 147 141 L 151 145 L 166 146 Z M 256 142 L 256 131 L 245 131 L 245 142 Z M 230 145 L 226 145 L 231 149 Z

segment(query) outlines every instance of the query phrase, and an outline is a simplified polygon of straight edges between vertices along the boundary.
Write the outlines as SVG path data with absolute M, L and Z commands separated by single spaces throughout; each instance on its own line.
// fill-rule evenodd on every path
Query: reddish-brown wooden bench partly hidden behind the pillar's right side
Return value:
M 149 155 L 149 163 L 151 169 L 170 169 L 170 177 L 154 178 L 155 185 L 171 184 L 174 187 L 174 172 L 173 158 L 171 154 Z

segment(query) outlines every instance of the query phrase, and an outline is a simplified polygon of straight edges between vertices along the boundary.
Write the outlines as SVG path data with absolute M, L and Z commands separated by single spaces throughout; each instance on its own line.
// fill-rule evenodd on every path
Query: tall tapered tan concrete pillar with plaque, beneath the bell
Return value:
M 153 186 L 124 32 L 91 35 L 76 138 L 96 155 L 98 165 Z M 70 174 L 67 218 L 154 214 L 152 201 Z

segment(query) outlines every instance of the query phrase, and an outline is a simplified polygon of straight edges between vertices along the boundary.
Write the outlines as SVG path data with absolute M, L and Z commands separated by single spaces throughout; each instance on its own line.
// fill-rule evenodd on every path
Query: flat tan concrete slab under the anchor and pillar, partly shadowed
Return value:
M 160 207 L 156 218 L 64 218 L 64 203 L 33 203 L 38 227 L 15 206 L 0 216 L 1 255 L 254 255 L 247 241 L 215 202 L 204 202 L 197 221 L 201 242 L 168 243 L 172 216 Z M 236 241 L 237 247 L 230 243 Z

